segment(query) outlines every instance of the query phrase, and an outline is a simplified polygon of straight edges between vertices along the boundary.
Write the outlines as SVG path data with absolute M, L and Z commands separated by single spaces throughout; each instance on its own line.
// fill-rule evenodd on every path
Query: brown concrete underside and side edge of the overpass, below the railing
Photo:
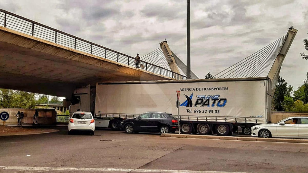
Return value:
M 0 26 L 0 88 L 70 98 L 96 82 L 168 79 Z

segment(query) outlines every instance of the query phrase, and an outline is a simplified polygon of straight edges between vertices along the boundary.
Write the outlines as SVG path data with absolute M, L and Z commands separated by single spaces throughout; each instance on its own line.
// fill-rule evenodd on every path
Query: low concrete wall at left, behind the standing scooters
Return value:
M 55 109 L 37 109 L 39 111 L 38 123 L 39 124 L 55 124 L 56 123 L 56 111 Z M 6 124 L 17 124 L 17 112 L 23 112 L 24 118 L 22 123 L 33 123 L 33 115 L 35 109 L 0 109 L 0 112 L 6 111 L 9 113 L 10 118 L 6 120 Z

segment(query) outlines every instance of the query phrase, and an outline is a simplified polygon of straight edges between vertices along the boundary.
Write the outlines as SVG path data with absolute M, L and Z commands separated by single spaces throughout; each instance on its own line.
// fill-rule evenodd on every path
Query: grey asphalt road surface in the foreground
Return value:
M 167 138 L 111 130 L 69 136 L 66 128 L 58 129 L 0 137 L 0 172 L 308 172 L 308 144 Z

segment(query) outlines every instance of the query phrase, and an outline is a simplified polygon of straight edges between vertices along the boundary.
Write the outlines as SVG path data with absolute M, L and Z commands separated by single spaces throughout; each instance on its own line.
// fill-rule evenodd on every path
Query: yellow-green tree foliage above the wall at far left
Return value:
M 0 89 L 0 107 L 32 109 L 35 107 L 35 97 L 35 93 Z

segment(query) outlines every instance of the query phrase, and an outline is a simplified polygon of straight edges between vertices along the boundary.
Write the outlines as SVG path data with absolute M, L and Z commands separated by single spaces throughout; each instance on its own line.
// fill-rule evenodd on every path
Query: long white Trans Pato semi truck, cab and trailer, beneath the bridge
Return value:
M 271 121 L 270 85 L 268 77 L 97 83 L 74 91 L 70 112 L 90 111 L 97 127 L 118 130 L 123 119 L 148 111 L 177 117 L 180 91 L 182 133 L 230 135 L 242 127 L 249 134 Z

